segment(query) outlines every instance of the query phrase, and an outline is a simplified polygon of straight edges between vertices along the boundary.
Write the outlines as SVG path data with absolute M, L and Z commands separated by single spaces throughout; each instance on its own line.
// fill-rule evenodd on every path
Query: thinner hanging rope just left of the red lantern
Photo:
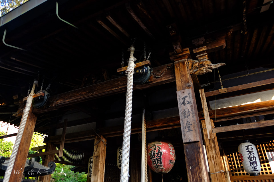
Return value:
M 145 109 L 142 118 L 142 164 L 141 164 L 141 182 L 148 182 L 148 166 L 146 156 L 146 117 Z

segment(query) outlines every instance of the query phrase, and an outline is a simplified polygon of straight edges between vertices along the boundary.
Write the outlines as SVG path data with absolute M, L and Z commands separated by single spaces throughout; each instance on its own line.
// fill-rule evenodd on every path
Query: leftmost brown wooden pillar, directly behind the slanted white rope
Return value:
M 25 168 L 27 156 L 29 153 L 29 146 L 31 144 L 31 138 L 34 131 L 37 117 L 32 113 L 33 107 L 30 108 L 29 115 L 27 117 L 26 125 L 23 131 L 23 136 L 18 147 L 18 152 L 15 158 L 12 171 L 19 173 L 11 173 L 9 182 L 21 182 L 23 177 L 23 169 Z M 23 117 L 22 117 L 23 118 Z M 17 136 L 18 137 L 18 136 Z

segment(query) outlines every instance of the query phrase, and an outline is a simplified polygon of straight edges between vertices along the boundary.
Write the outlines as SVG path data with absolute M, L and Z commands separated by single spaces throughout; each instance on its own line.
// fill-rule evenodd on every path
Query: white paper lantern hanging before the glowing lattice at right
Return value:
M 241 143 L 238 150 L 245 172 L 249 174 L 260 173 L 261 164 L 255 145 L 249 142 Z

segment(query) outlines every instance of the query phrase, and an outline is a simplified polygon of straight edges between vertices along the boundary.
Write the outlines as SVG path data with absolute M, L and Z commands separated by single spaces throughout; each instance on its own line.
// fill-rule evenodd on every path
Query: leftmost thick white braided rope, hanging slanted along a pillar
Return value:
M 29 110 L 31 109 L 31 104 L 32 104 L 34 89 L 35 89 L 36 84 L 37 84 L 37 81 L 35 80 L 33 82 L 31 93 L 29 94 L 29 96 L 27 98 L 26 106 L 25 106 L 25 109 L 23 111 L 22 120 L 21 120 L 21 123 L 20 123 L 20 127 L 19 127 L 19 130 L 18 130 L 18 133 L 17 133 L 17 137 L 16 137 L 16 140 L 15 140 L 15 143 L 14 143 L 14 146 L 13 146 L 13 150 L 12 150 L 12 153 L 11 153 L 11 158 L 9 159 L 9 165 L 7 167 L 3 182 L 9 182 L 9 178 L 11 177 L 11 172 L 12 172 L 12 169 L 13 169 L 13 166 L 14 166 L 15 158 L 17 156 L 18 148 L 19 148 L 22 136 L 23 136 L 23 131 L 25 129 L 27 118 L 29 116 Z M 27 158 L 26 158 L 26 160 L 27 160 Z M 16 169 L 16 170 L 18 170 L 18 169 Z M 19 169 L 19 170 L 21 170 L 21 169 Z M 23 171 L 21 171 L 21 172 L 23 172 Z

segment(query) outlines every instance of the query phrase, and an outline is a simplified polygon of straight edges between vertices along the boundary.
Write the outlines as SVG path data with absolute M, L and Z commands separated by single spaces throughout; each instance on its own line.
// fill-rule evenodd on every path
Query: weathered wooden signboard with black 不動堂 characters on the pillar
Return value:
M 192 97 L 192 90 L 185 89 L 177 91 L 179 115 L 181 120 L 181 129 L 183 142 L 199 141 L 199 135 L 197 131 L 196 115 Z

